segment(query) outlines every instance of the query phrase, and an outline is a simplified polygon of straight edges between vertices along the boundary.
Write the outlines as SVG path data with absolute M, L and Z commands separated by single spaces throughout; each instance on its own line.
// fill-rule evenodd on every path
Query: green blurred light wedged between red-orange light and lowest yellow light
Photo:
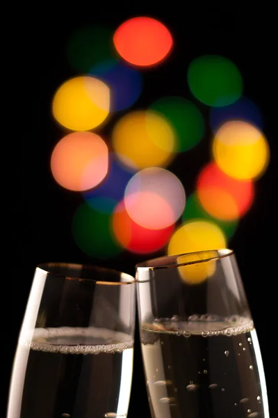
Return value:
M 238 226 L 238 220 L 234 221 L 223 221 L 210 215 L 204 210 L 202 203 L 199 201 L 197 192 L 194 192 L 186 199 L 186 208 L 182 215 L 183 222 L 189 220 L 204 219 L 218 225 L 227 238 L 231 238 L 234 235 Z

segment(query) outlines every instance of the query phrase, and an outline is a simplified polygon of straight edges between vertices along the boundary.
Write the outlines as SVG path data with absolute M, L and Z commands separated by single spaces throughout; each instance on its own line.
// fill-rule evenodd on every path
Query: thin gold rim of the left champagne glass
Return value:
M 67 280 L 91 281 L 95 284 L 104 284 L 112 286 L 122 286 L 126 284 L 133 284 L 136 280 L 130 274 L 114 270 L 112 268 L 99 267 L 98 265 L 79 264 L 79 263 L 40 263 L 36 267 L 46 274 L 51 274 L 57 277 L 63 277 Z M 76 274 L 74 274 L 74 271 Z M 107 280 L 96 280 L 88 277 L 89 274 L 106 275 Z M 117 277 L 118 281 L 111 281 L 109 277 Z M 120 281 L 122 279 L 122 281 Z

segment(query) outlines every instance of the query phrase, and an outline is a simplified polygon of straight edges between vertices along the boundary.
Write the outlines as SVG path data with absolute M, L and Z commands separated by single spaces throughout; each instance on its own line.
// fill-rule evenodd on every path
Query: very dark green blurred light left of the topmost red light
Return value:
M 83 26 L 72 33 L 67 59 L 74 70 L 89 72 L 99 61 L 113 58 L 113 32 L 106 26 Z

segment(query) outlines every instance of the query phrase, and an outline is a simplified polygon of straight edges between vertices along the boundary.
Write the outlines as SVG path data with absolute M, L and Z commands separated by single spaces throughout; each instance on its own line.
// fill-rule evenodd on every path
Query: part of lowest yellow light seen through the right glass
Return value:
M 209 258 L 215 258 L 215 256 L 217 256 L 216 251 L 202 251 L 179 256 L 177 258 L 178 264 L 193 263 L 179 265 L 178 270 L 181 279 L 187 284 L 199 284 L 213 276 L 216 270 L 216 261 Z

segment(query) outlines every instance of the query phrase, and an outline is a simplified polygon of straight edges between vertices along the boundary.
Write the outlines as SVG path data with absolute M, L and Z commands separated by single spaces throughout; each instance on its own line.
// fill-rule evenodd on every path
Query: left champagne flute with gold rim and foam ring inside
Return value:
M 123 272 L 35 268 L 13 365 L 8 418 L 126 417 L 136 287 Z

